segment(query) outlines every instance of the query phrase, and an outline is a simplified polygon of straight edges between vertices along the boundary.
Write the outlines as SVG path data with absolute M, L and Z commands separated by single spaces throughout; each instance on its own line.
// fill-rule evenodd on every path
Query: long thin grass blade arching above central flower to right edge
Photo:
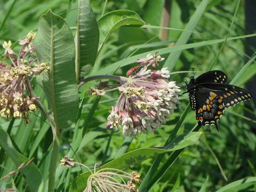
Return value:
M 237 36 L 237 37 L 230 37 L 227 39 L 227 41 L 235 40 L 235 39 L 241 39 L 241 38 L 247 38 L 247 37 L 253 37 L 256 36 L 256 34 L 250 34 L 250 35 L 243 35 L 243 36 Z M 145 58 L 147 54 L 155 54 L 156 51 L 159 52 L 159 54 L 165 54 L 165 53 L 171 53 L 171 52 L 177 52 L 177 51 L 182 51 L 182 50 L 187 50 L 187 49 L 192 49 L 196 47 L 201 47 L 201 46 L 206 46 L 206 45 L 213 45 L 217 43 L 224 42 L 225 38 L 223 39 L 214 39 L 214 40 L 209 40 L 209 41 L 202 41 L 198 43 L 189 43 L 186 45 L 179 45 L 179 46 L 174 46 L 174 47 L 166 47 L 162 49 L 156 49 L 153 51 L 148 51 L 145 53 L 137 54 L 132 57 L 117 61 L 115 63 L 112 63 L 111 65 L 108 65 L 107 67 L 104 67 L 98 71 L 95 71 L 92 73 L 92 75 L 102 75 L 102 74 L 108 74 L 111 73 L 112 71 L 115 71 L 119 67 L 124 67 L 127 65 L 130 65 L 131 63 L 134 63 L 137 61 L 139 58 Z

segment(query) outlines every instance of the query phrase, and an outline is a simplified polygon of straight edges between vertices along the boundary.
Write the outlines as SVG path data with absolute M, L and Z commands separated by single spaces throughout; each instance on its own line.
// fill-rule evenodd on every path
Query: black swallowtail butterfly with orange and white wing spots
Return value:
M 227 84 L 227 75 L 220 70 L 206 72 L 186 83 L 192 110 L 199 125 L 215 125 L 225 109 L 252 99 L 244 89 Z

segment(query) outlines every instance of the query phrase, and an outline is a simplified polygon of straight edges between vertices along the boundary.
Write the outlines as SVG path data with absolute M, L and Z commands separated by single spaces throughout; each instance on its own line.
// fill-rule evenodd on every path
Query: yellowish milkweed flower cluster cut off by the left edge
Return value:
M 4 58 L 10 60 L 10 64 L 0 62 L 0 115 L 6 119 L 23 118 L 29 122 L 29 112 L 34 112 L 37 107 L 36 98 L 31 98 L 26 87 L 26 79 L 33 74 L 39 75 L 42 71 L 50 69 L 47 63 L 34 65 L 34 45 L 31 41 L 35 34 L 29 32 L 25 39 L 20 41 L 22 45 L 18 54 L 12 50 L 11 41 L 4 42 Z

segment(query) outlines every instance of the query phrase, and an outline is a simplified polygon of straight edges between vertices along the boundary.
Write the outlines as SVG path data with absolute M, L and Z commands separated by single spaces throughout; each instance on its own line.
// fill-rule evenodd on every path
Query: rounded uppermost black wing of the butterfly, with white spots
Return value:
M 226 83 L 227 75 L 220 70 L 206 72 L 196 78 L 196 84 L 199 83 Z

